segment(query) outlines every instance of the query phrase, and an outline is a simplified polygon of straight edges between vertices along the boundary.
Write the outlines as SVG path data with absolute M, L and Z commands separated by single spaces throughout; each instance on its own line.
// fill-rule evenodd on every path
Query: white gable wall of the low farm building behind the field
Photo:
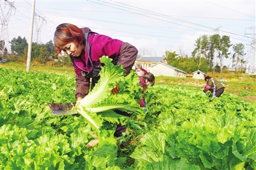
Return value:
M 155 76 L 164 75 L 164 76 L 171 76 L 171 77 L 177 77 L 177 72 L 173 70 L 172 68 L 168 68 L 164 65 L 155 65 L 151 68 L 151 72 Z

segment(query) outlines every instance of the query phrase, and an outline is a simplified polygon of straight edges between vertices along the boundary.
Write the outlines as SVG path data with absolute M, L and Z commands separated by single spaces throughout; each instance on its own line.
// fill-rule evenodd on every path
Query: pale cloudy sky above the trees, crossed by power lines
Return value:
M 33 1 L 13 3 L 8 22 L 8 38 L 21 36 L 29 40 Z M 1 0 L 5 16 L 10 6 Z M 243 43 L 245 59 L 253 63 L 253 31 L 255 33 L 254 1 L 41 1 L 35 2 L 33 39 L 41 43 L 53 40 L 56 27 L 64 22 L 118 38 L 136 46 L 139 54 L 163 56 L 166 50 L 189 56 L 195 40 L 202 35 L 230 36 L 232 44 Z M 3 14 L 1 15 L 3 17 Z M 3 18 L 1 18 L 1 21 Z M 40 29 L 41 28 L 41 29 Z M 254 37 L 255 38 L 255 37 Z M 255 40 L 255 39 L 254 39 Z M 232 49 L 230 49 L 232 51 Z M 255 52 L 255 43 L 254 43 Z M 253 55 L 254 56 L 253 56 Z

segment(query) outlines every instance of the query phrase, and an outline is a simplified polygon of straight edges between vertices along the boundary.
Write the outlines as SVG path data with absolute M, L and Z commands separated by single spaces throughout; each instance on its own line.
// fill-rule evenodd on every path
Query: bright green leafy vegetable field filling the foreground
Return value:
M 256 104 L 224 92 L 148 87 L 116 150 L 113 130 L 92 149 L 81 114 L 53 116 L 45 104 L 76 102 L 74 75 L 0 68 L 1 169 L 256 169 Z

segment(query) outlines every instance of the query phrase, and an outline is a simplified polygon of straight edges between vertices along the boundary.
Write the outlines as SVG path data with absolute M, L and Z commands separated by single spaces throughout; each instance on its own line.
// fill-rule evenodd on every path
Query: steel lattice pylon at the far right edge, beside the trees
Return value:
M 253 29 L 253 33 L 246 33 L 246 29 Z M 248 56 L 248 59 L 249 61 L 252 61 L 252 72 L 253 73 L 256 73 L 256 52 L 255 52 L 255 44 L 256 44 L 256 41 L 255 41 L 255 26 L 252 26 L 252 27 L 247 27 L 245 29 L 245 33 L 244 35 L 252 35 L 252 42 L 246 44 L 246 45 L 250 45 L 250 50 L 247 54 Z M 251 62 L 249 62 L 251 63 Z M 250 65 L 249 65 L 249 69 L 248 69 L 248 72 L 250 72 Z

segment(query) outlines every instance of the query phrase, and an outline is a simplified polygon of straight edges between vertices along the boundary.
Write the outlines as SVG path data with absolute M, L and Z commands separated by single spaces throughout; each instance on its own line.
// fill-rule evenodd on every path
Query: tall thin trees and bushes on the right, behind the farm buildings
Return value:
M 232 47 L 233 52 L 229 51 L 230 47 Z M 232 68 L 234 67 L 236 72 L 245 72 L 245 54 L 243 43 L 233 45 L 229 36 L 220 36 L 218 34 L 212 36 L 202 35 L 197 38 L 195 49 L 191 56 L 187 54 L 179 55 L 175 51 L 165 52 L 169 65 L 187 73 L 195 72 L 195 70 L 205 73 L 212 71 L 221 73 L 223 69 L 228 69 L 227 66 L 223 66 L 224 59 L 228 58 L 231 59 Z

